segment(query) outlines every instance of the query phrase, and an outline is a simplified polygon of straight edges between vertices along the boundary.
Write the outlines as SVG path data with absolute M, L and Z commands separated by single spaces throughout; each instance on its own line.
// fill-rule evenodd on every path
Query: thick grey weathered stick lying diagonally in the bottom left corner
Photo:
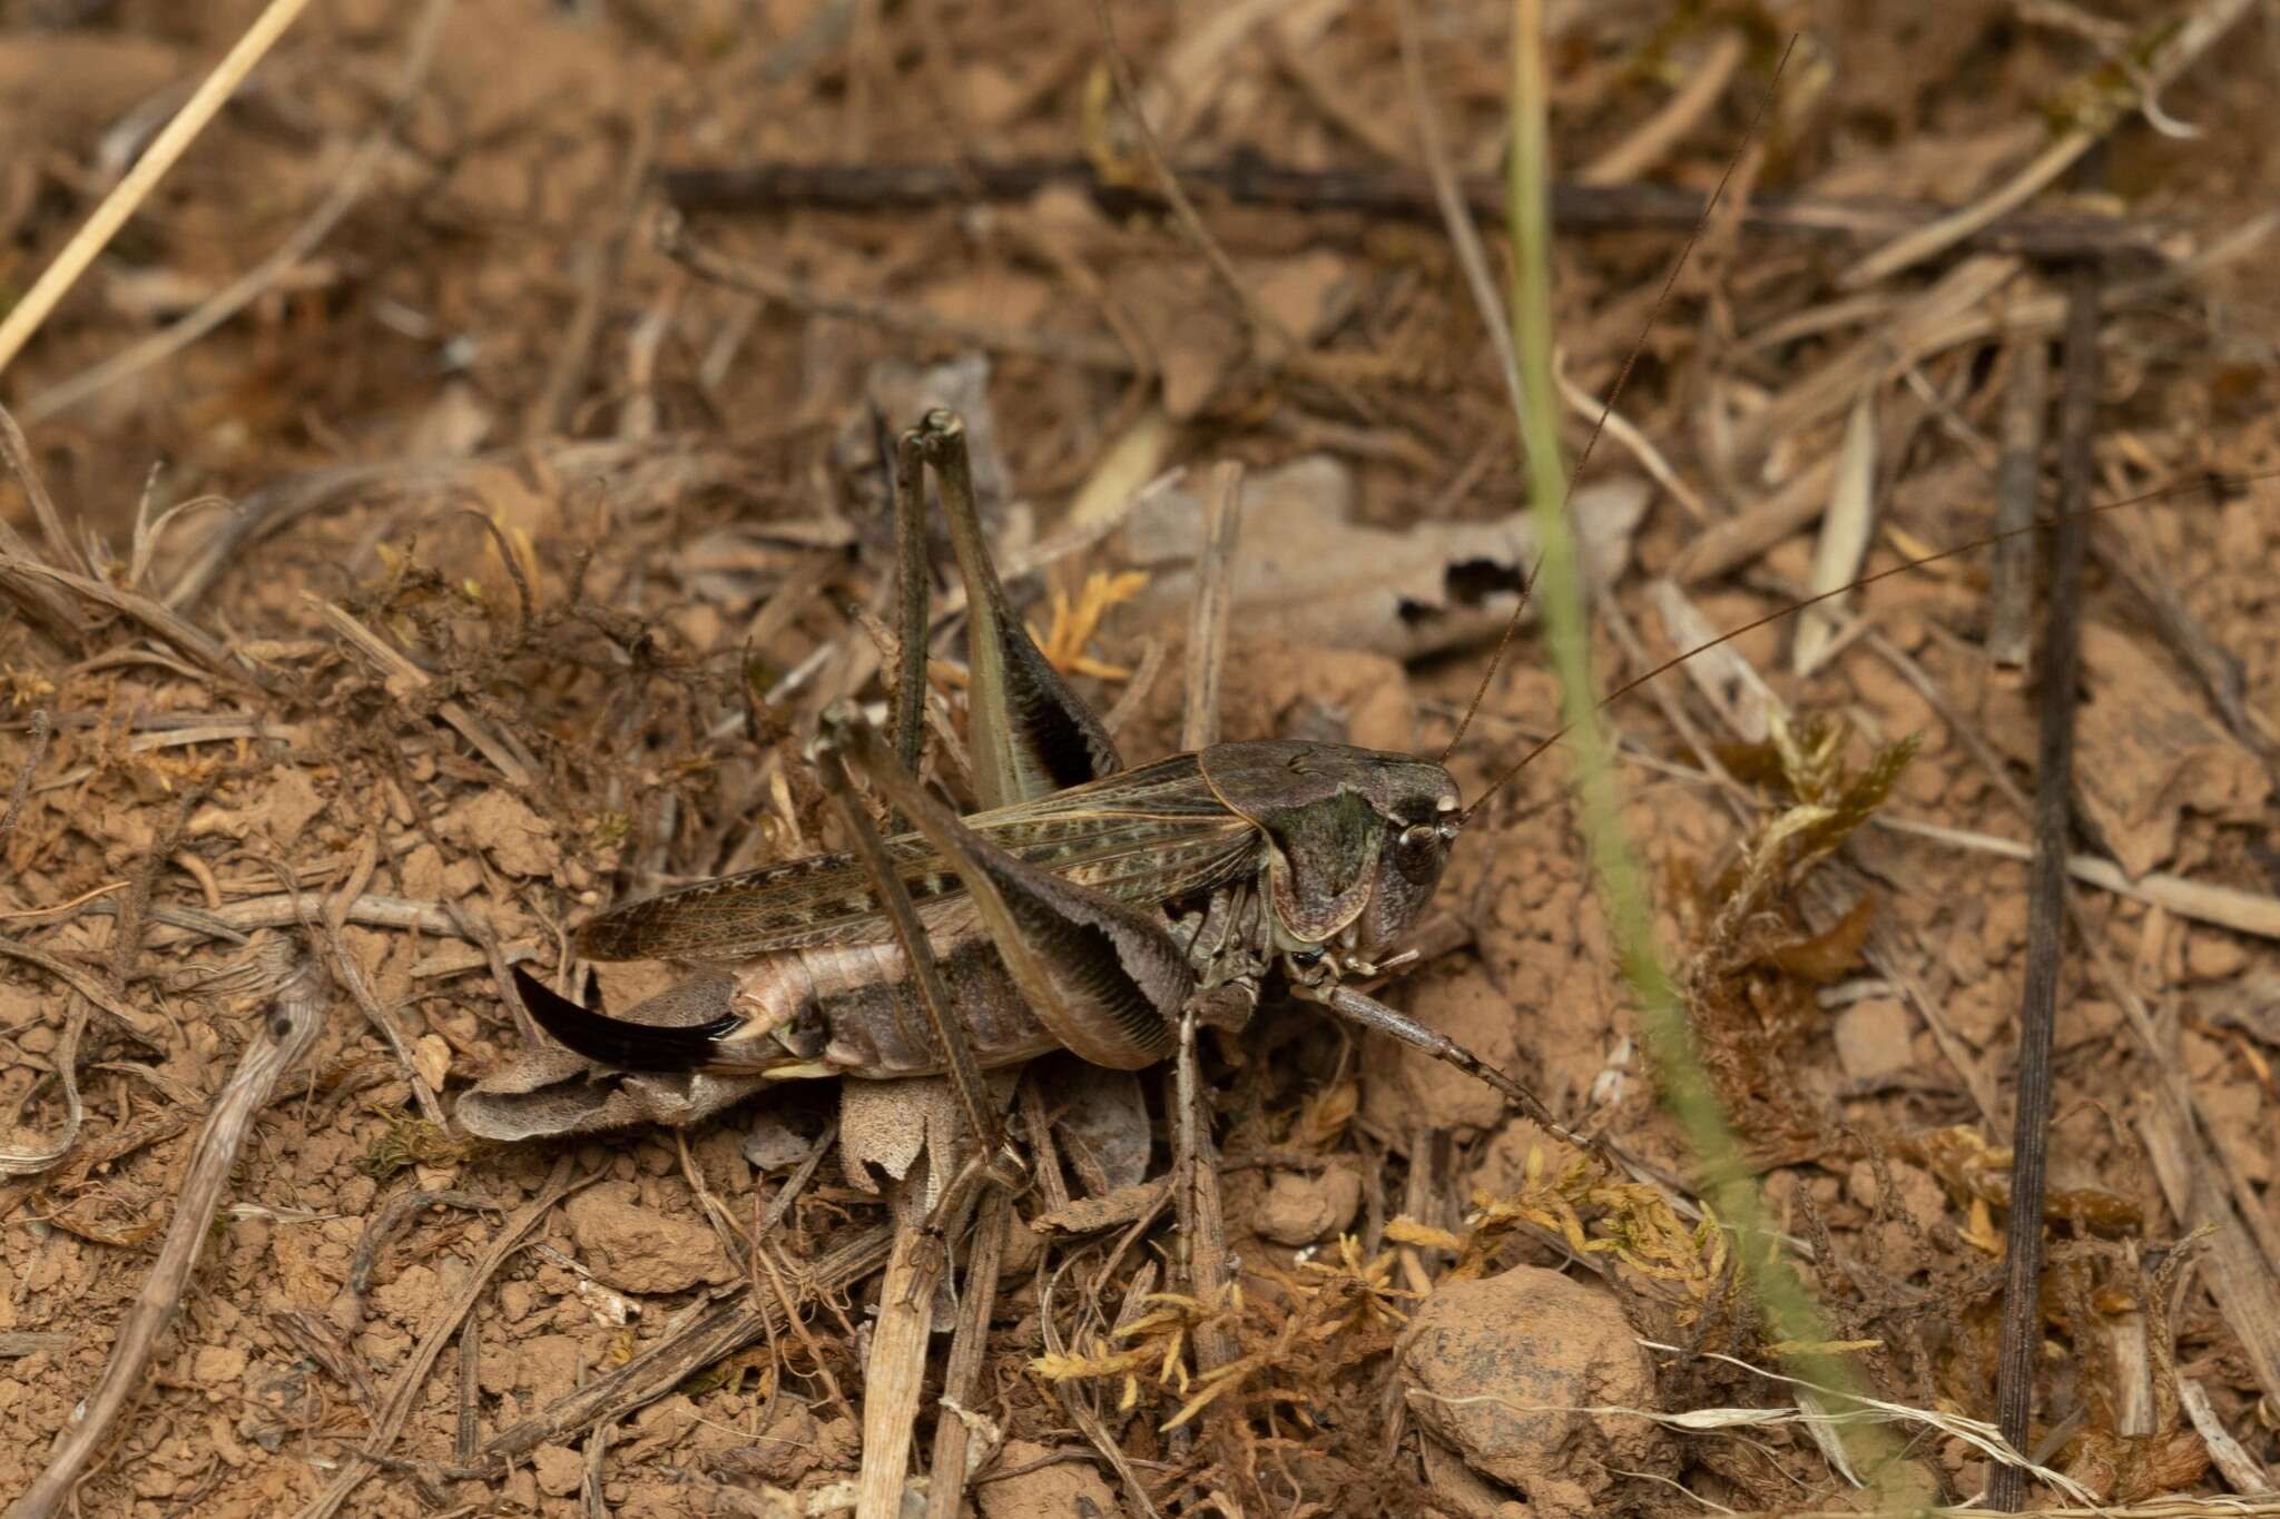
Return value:
M 62 1446 L 48 1460 L 48 1469 L 25 1489 L 9 1510 L 9 1519 L 46 1519 L 59 1512 L 71 1489 L 78 1485 L 87 1462 L 96 1455 L 112 1421 L 125 1407 L 135 1389 L 141 1387 L 144 1369 L 157 1348 L 160 1335 L 173 1321 L 189 1287 L 189 1273 L 198 1266 L 198 1255 L 214 1237 L 214 1209 L 230 1182 L 237 1164 L 237 1148 L 253 1127 L 253 1116 L 269 1102 L 269 1091 L 294 1064 L 308 1054 L 324 1027 L 326 1004 L 324 972 L 315 961 L 301 959 L 287 972 L 271 997 L 269 1013 L 260 1020 L 253 1041 L 246 1045 L 237 1070 L 214 1098 L 214 1107 L 198 1130 L 198 1143 L 189 1155 L 189 1171 L 182 1191 L 176 1196 L 173 1223 L 166 1225 L 166 1241 L 157 1250 L 150 1275 L 144 1278 L 135 1307 L 119 1325 L 112 1346 L 112 1362 L 103 1369 L 103 1380 L 87 1396 L 87 1412 L 80 1423 L 64 1435 Z

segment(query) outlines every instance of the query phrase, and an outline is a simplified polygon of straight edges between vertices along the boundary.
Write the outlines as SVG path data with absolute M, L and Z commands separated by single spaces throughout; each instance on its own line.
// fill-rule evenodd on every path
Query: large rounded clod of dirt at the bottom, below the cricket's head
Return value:
M 1653 1421 L 1573 1412 L 1653 1407 L 1655 1366 L 1607 1291 L 1557 1271 L 1436 1289 L 1409 1325 L 1402 1382 L 1427 1435 L 1525 1494 L 1537 1519 L 1617 1512 L 1614 1471 L 1676 1464 Z

